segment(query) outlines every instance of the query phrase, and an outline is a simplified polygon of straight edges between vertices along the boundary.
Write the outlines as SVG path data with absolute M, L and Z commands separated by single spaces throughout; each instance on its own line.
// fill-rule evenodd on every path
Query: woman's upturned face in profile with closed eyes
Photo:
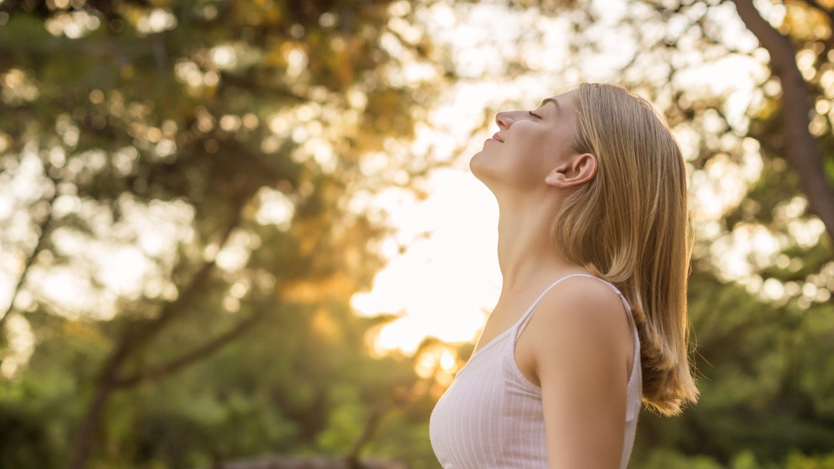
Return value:
M 570 142 L 576 128 L 575 92 L 545 98 L 532 111 L 506 111 L 495 116 L 498 132 L 470 160 L 475 177 L 495 191 L 544 187 L 545 177 L 565 156 L 575 154 Z

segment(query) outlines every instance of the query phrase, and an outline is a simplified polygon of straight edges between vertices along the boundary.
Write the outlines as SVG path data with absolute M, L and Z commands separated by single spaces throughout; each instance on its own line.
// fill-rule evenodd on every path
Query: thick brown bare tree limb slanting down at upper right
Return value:
M 786 156 L 799 175 L 811 212 L 820 217 L 828 235 L 834 239 L 834 189 L 826 179 L 816 139 L 808 131 L 811 124 L 811 92 L 796 66 L 796 50 L 789 38 L 761 18 L 752 0 L 732 1 L 741 21 L 771 55 L 771 72 L 781 80 Z

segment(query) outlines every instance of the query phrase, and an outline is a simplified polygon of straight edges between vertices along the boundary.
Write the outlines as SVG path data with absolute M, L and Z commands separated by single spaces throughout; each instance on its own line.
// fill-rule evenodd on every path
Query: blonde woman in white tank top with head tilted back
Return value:
M 495 120 L 470 168 L 498 200 L 503 285 L 432 446 L 446 469 L 624 468 L 641 397 L 674 415 L 698 394 L 681 150 L 605 84 Z

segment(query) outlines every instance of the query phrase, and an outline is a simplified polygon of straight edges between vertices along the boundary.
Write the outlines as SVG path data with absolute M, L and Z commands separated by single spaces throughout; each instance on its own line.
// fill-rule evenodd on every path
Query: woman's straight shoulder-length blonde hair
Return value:
M 640 336 L 643 401 L 675 415 L 698 399 L 687 350 L 691 250 L 681 149 L 651 104 L 623 88 L 582 84 L 575 110 L 572 145 L 594 154 L 598 169 L 567 196 L 551 235 L 569 260 L 625 295 Z

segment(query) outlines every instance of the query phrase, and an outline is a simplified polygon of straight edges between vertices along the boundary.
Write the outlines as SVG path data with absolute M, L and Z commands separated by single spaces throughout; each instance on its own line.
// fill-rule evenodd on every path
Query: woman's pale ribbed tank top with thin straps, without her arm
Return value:
M 470 357 L 455 381 L 440 397 L 431 414 L 430 439 L 444 469 L 521 469 L 548 466 L 545 418 L 541 388 L 528 380 L 515 362 L 515 342 L 530 322 L 535 307 L 560 281 L 557 280 L 530 305 L 510 329 Z M 625 306 L 634 333 L 634 366 L 628 381 L 625 435 L 620 469 L 628 465 L 637 416 L 641 408 L 640 341 L 631 308 L 620 291 L 608 282 Z

